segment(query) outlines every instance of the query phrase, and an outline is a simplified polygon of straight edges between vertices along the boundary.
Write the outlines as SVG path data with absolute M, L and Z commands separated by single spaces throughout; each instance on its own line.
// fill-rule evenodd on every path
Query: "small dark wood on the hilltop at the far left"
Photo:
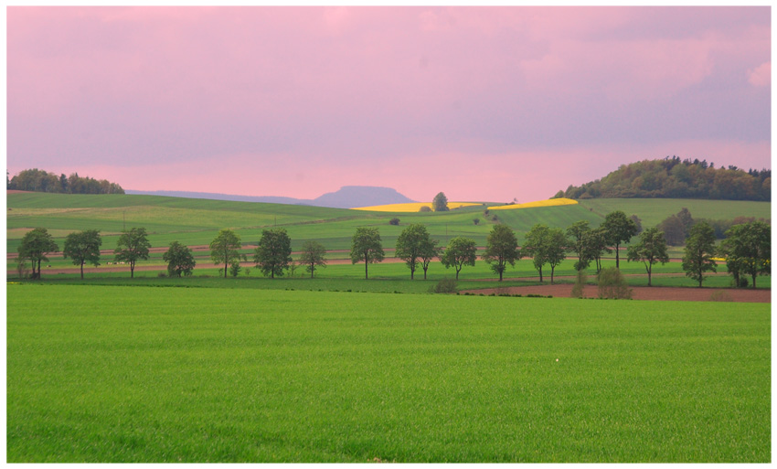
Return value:
M 39 169 L 25 169 L 8 179 L 5 173 L 5 185 L 8 190 L 29 190 L 33 192 L 57 192 L 60 194 L 123 194 L 124 189 L 105 179 L 81 177 L 78 173 L 70 176 L 47 173 Z

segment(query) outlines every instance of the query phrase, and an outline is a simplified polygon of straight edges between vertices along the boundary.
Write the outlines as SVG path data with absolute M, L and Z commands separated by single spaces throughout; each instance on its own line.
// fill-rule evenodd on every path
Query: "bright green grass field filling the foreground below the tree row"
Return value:
M 628 304 L 8 284 L 7 461 L 771 461 L 770 306 Z

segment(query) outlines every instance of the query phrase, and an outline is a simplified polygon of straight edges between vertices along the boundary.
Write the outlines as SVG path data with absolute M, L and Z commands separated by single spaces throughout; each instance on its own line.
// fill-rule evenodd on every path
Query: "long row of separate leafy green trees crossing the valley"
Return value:
M 605 217 L 601 226 L 592 228 L 587 220 L 573 223 L 566 230 L 549 228 L 544 224 L 536 224 L 526 234 L 522 246 L 518 246 L 516 232 L 504 224 L 497 224 L 486 238 L 486 245 L 481 260 L 489 264 L 492 272 L 503 280 L 507 265 L 515 266 L 516 261 L 523 258 L 531 259 L 543 282 L 543 269 L 550 269 L 550 283 L 559 264 L 568 253 L 576 257 L 574 268 L 582 272 L 594 264 L 597 274 L 601 272 L 601 257 L 606 253 L 615 253 L 615 268 L 620 269 L 621 246 L 631 242 L 639 233 L 639 237 L 626 250 L 627 261 L 644 263 L 648 276 L 648 286 L 652 284 L 652 273 L 655 264 L 665 264 L 669 261 L 665 233 L 660 227 L 645 229 L 639 232 L 638 219 L 627 217 L 621 210 L 615 210 Z M 705 220 L 693 223 L 688 230 L 686 248 L 683 256 L 683 270 L 687 277 L 694 279 L 701 287 L 706 272 L 717 272 L 716 256 L 725 258 L 727 268 L 733 276 L 736 286 L 747 286 L 747 277 L 756 286 L 756 277 L 771 273 L 771 227 L 763 221 L 753 220 L 735 225 L 725 233 L 726 239 L 716 247 L 715 231 Z M 75 265 L 80 265 L 83 278 L 83 266 L 90 263 L 100 265 L 101 236 L 98 230 L 88 229 L 70 233 L 64 243 L 63 257 L 72 259 Z M 137 261 L 147 260 L 151 243 L 148 241 L 144 228 L 133 228 L 124 231 L 116 243 L 114 260 L 130 266 L 130 276 L 134 276 Z M 209 245 L 210 258 L 217 265 L 219 275 L 226 278 L 228 273 L 237 276 L 241 270 L 240 261 L 248 261 L 247 256 L 240 252 L 242 243 L 239 234 L 231 229 L 221 229 Z M 48 230 L 36 228 L 28 231 L 22 239 L 19 248 L 19 263 L 26 261 L 32 264 L 32 278 L 40 278 L 40 266 L 48 261 L 47 255 L 58 252 L 59 246 L 53 240 Z M 325 247 L 315 240 L 303 243 L 299 264 L 310 272 L 311 278 L 317 268 L 326 267 Z M 420 223 L 410 224 L 403 229 L 397 238 L 396 257 L 405 261 L 410 269 L 410 280 L 420 268 L 423 278 L 431 261 L 439 259 L 446 269 L 453 268 L 456 280 L 459 272 L 466 265 L 474 266 L 477 260 L 475 241 L 463 236 L 457 236 L 449 241 L 448 246 L 439 246 L 438 240 L 431 239 L 426 226 Z M 381 262 L 385 258 L 382 240 L 378 228 L 357 228 L 351 240 L 351 263 L 364 262 L 365 279 L 369 278 L 369 264 Z M 191 275 L 196 261 L 192 251 L 173 241 L 163 254 L 167 263 L 167 274 L 180 277 Z M 281 277 L 294 267 L 292 259 L 292 240 L 285 229 L 263 229 L 258 247 L 254 250 L 253 261 L 265 276 Z

